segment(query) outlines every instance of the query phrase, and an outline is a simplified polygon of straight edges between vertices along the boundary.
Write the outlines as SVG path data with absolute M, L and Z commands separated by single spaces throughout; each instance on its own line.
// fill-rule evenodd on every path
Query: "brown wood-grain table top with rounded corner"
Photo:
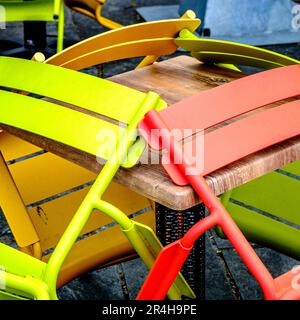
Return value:
M 242 73 L 204 66 L 194 58 L 180 56 L 113 76 L 109 80 L 144 92 L 155 91 L 170 105 L 242 76 Z M 99 172 L 101 169 L 94 156 L 22 130 L 9 126 L 1 127 L 91 171 Z M 300 137 L 248 156 L 206 176 L 206 179 L 219 195 L 298 159 Z M 176 186 L 158 164 L 139 164 L 131 169 L 121 168 L 115 180 L 174 210 L 188 209 L 200 202 L 190 186 Z

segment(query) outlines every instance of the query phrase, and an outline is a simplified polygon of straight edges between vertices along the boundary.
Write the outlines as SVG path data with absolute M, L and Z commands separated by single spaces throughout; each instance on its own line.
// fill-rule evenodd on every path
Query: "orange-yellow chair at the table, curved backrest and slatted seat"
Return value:
M 76 44 L 46 63 L 83 69 L 128 56 L 157 57 L 174 52 L 177 47 L 170 39 L 174 39 L 183 28 L 193 31 L 199 23 L 198 19 L 187 18 L 117 29 Z M 152 46 L 155 41 L 163 45 Z M 142 43 L 145 44 L 144 50 Z M 113 55 L 118 50 L 118 54 Z M 92 54 L 95 51 L 100 52 L 99 55 Z M 21 250 L 48 261 L 96 175 L 5 132 L 0 134 L 0 150 L 9 164 L 8 170 L 0 158 L 0 184 L 6 186 L 0 190 L 0 202 L 6 219 Z M 140 213 L 134 219 L 155 229 L 154 211 L 145 197 L 112 183 L 104 199 L 129 216 Z M 106 216 L 92 215 L 82 232 L 82 235 L 89 236 L 74 245 L 62 267 L 58 286 L 89 270 L 136 257 L 126 237 L 111 223 Z M 103 230 L 99 232 L 101 228 Z

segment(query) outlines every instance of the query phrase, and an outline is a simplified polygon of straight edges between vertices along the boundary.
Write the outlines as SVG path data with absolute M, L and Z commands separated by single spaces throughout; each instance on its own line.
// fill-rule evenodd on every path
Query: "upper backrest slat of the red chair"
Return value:
M 159 112 L 159 118 L 169 130 L 181 130 L 181 138 L 184 139 L 191 135 L 191 131 L 194 134 L 249 111 L 299 95 L 299 81 L 299 65 L 265 71 L 180 101 Z M 151 121 L 151 117 L 146 117 L 140 124 L 145 134 L 151 134 L 148 120 Z M 161 148 L 153 139 L 151 147 Z

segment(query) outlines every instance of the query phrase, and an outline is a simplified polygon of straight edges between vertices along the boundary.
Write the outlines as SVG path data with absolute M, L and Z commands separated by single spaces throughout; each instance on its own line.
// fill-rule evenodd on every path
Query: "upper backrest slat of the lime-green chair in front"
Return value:
M 7 57 L 0 57 L 0 86 L 49 97 L 124 123 L 129 123 L 145 97 L 108 80 Z

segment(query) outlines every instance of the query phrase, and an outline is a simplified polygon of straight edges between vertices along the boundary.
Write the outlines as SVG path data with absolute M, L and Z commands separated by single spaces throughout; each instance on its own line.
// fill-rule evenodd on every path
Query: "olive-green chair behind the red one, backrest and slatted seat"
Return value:
M 299 64 L 279 53 L 249 45 L 199 39 L 183 30 L 176 44 L 209 64 L 260 69 Z M 300 161 L 255 179 L 221 196 L 222 203 L 246 238 L 300 260 Z M 221 228 L 217 234 L 226 238 Z

